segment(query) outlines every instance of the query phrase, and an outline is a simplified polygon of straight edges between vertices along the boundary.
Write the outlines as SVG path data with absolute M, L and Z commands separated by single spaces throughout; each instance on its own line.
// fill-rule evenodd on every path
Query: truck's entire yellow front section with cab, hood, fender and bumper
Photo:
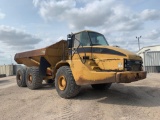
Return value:
M 67 41 L 70 65 L 78 85 L 129 83 L 146 78 L 140 56 L 109 46 L 98 32 L 85 30 L 70 34 Z

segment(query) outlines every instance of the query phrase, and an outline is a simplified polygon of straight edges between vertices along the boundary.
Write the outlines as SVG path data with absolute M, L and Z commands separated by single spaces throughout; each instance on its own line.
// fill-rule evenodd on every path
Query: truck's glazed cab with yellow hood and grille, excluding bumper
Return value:
M 100 71 L 142 71 L 142 58 L 128 50 L 109 46 L 104 35 L 81 31 L 68 35 L 70 59 L 95 63 Z

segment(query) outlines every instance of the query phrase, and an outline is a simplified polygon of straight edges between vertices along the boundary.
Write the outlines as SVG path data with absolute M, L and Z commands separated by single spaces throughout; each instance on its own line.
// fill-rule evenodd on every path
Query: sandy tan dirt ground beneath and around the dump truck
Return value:
M 108 91 L 83 86 L 74 99 L 60 98 L 53 85 L 30 90 L 15 76 L 0 78 L 0 120 L 160 120 L 160 74 Z

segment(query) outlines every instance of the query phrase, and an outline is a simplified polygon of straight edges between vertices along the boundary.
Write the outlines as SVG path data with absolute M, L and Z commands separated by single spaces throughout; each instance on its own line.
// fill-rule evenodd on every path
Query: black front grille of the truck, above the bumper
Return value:
M 125 59 L 124 68 L 127 71 L 142 71 L 142 61 Z

